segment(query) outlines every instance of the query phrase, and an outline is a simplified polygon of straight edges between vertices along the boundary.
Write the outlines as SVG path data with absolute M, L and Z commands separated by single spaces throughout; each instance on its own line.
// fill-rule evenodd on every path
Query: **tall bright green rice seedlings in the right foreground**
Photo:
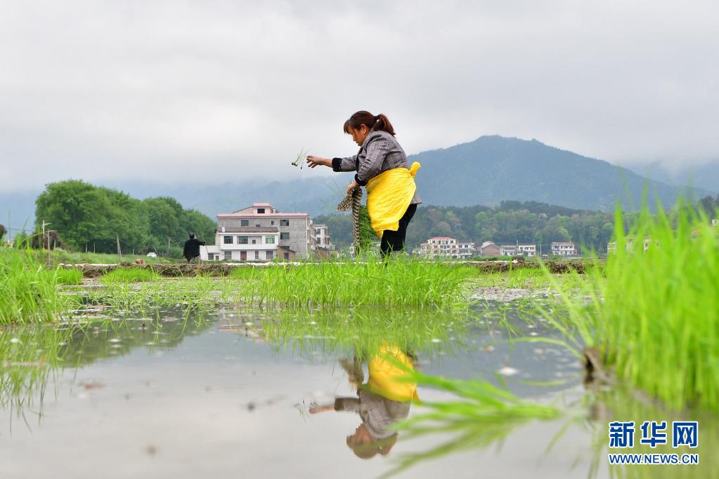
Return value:
M 702 212 L 642 209 L 625 233 L 615 215 L 616 249 L 587 275 L 579 297 L 562 293 L 545 317 L 575 347 L 600 351 L 619 380 L 669 407 L 719 408 L 719 243 Z M 550 278 L 552 282 L 554 279 Z

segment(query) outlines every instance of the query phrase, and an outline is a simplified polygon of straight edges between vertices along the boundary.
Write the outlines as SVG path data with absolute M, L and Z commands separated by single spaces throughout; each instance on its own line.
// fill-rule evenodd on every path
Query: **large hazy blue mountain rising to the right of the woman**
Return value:
M 628 169 L 536 140 L 503 136 L 482 136 L 470 143 L 414 154 L 410 161 L 422 164 L 417 187 L 423 202 L 431 205 L 518 200 L 609 211 L 617 200 L 625 208 L 636 208 L 645 186 L 667 206 L 680 192 L 694 198 L 709 194 L 652 182 Z

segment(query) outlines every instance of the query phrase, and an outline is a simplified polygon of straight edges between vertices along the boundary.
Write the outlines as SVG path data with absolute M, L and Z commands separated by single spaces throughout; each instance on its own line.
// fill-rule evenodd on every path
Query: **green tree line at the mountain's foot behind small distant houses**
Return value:
M 716 198 L 702 198 L 695 208 L 710 216 L 719 209 Z M 623 213 L 628 228 L 638 213 Z M 352 218 L 349 215 L 321 215 L 316 223 L 326 223 L 333 243 L 352 243 Z M 407 248 L 413 248 L 433 236 L 449 236 L 459 241 L 495 243 L 549 244 L 573 241 L 577 246 L 607 250 L 614 231 L 614 213 L 575 210 L 535 201 L 503 201 L 497 206 L 425 206 L 417 209 L 407 230 Z

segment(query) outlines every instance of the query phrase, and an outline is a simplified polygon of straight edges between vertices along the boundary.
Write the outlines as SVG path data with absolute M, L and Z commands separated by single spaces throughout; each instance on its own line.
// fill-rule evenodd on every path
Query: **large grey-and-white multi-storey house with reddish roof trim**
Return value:
M 319 225 L 323 249 L 331 247 L 329 230 Z M 217 215 L 215 244 L 200 248 L 206 261 L 291 261 L 314 256 L 316 229 L 308 213 L 280 213 L 270 203 L 255 203 Z M 326 242 L 325 242 L 326 241 Z

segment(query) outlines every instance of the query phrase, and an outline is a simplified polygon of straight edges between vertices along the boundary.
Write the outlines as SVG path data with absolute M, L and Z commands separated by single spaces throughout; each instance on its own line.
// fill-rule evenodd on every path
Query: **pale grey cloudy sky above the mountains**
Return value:
M 715 1 L 0 0 L 0 191 L 319 175 L 358 109 L 409 153 L 484 134 L 719 158 Z

